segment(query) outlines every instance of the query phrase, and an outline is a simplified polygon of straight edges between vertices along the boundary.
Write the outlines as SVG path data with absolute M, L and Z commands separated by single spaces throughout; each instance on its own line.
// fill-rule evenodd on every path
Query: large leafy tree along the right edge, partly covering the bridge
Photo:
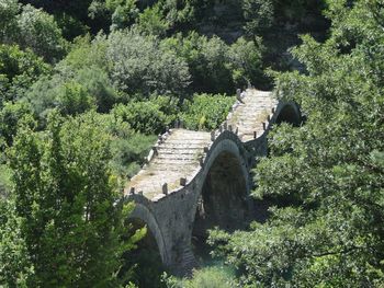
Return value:
M 383 14 L 375 1 L 329 1 L 332 34 L 293 53 L 306 73 L 279 73 L 278 91 L 307 114 L 281 125 L 253 195 L 275 204 L 248 232 L 211 241 L 242 286 L 381 287 L 384 281 Z

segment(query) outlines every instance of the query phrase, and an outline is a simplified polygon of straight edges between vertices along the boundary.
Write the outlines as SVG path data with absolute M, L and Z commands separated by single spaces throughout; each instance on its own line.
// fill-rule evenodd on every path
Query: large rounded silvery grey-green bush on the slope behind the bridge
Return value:
M 155 36 L 135 30 L 110 34 L 108 59 L 111 78 L 126 93 L 181 94 L 189 84 L 187 64 L 171 50 L 163 49 Z

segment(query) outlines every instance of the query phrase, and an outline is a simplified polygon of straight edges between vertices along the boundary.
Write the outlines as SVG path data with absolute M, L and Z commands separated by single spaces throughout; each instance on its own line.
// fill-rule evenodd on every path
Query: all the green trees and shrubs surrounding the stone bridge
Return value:
M 383 287 L 383 47 L 381 0 L 0 0 L 0 286 Z M 250 85 L 305 115 L 256 159 L 269 217 L 161 276 L 123 187 Z

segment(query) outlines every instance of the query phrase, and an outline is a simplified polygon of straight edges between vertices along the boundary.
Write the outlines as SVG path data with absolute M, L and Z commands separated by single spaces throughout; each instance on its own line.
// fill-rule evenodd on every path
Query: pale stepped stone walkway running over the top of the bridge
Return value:
M 252 140 L 255 133 L 258 137 L 264 131 L 263 123 L 266 125 L 276 105 L 271 92 L 247 90 L 241 102 L 234 104 L 221 129 L 213 133 L 169 130 L 159 137 L 148 155 L 148 163 L 131 180 L 125 193 L 143 194 L 156 201 L 168 192 L 181 188 L 200 171 L 202 157 L 223 129 L 237 133 L 242 142 Z

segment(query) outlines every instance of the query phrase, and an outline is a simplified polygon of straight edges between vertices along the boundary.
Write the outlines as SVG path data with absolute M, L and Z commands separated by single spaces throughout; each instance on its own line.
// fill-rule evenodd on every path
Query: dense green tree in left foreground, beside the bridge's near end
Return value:
M 110 136 L 95 113 L 50 114 L 47 130 L 21 125 L 9 152 L 21 233 L 34 267 L 29 287 L 118 287 L 127 238 L 123 205 L 111 175 Z M 124 239 L 125 238 L 125 239 Z M 124 241 L 125 240 L 125 241 Z

